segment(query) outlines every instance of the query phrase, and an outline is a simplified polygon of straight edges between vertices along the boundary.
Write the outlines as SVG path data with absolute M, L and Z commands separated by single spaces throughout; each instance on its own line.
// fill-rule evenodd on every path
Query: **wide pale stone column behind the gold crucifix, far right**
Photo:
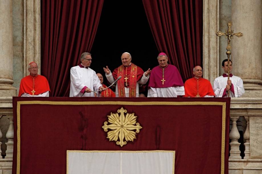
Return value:
M 232 0 L 233 74 L 244 82 L 244 97 L 262 97 L 262 1 Z

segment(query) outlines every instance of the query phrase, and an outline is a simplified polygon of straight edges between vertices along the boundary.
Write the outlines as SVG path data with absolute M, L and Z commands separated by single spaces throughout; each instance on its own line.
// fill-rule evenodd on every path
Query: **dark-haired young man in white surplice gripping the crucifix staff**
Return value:
M 228 79 L 228 59 L 222 62 L 224 74 L 214 81 L 214 92 L 216 97 L 241 97 L 244 93 L 243 80 L 240 77 L 231 74 L 232 61 L 229 61 L 229 79 Z

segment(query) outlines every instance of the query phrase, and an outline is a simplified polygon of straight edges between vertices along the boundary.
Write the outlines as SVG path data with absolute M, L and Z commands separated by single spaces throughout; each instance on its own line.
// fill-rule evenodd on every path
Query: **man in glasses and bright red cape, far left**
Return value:
M 28 65 L 30 74 L 22 78 L 20 82 L 20 97 L 49 97 L 49 84 L 44 76 L 38 74 L 38 66 L 35 62 Z

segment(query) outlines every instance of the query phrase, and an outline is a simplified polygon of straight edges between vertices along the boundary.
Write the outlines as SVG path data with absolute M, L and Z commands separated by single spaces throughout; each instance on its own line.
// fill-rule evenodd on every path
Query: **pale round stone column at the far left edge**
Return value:
M 12 1 L 0 0 L 0 97 L 16 96 L 13 81 Z

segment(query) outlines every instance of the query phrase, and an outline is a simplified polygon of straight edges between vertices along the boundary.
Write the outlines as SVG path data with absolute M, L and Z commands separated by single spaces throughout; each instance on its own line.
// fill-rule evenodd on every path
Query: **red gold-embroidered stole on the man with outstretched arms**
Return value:
M 117 78 L 119 76 L 122 76 L 122 78 L 117 81 L 118 95 L 119 97 L 125 97 L 125 79 L 124 79 L 125 75 L 124 75 L 123 65 L 121 65 L 117 69 Z M 131 64 L 130 75 L 127 80 L 129 81 L 129 97 L 135 97 L 136 85 L 137 85 L 137 66 L 134 65 L 133 63 Z

